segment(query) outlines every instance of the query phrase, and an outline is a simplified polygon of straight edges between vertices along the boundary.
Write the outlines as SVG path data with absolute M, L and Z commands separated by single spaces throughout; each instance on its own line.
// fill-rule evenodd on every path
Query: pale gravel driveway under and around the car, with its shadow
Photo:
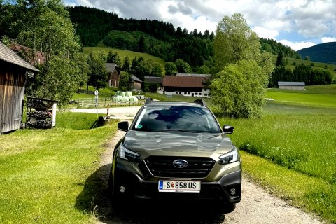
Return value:
M 80 112 L 87 110 L 90 109 Z M 138 110 L 139 107 L 112 109 L 110 114 L 120 120 L 129 120 Z M 153 202 L 130 204 L 125 211 L 117 212 L 109 203 L 107 186 L 113 148 L 124 133 L 116 132 L 109 141 L 108 150 L 102 155 L 102 167 L 96 172 L 102 180 L 104 189 L 97 202 L 99 223 L 323 223 L 318 217 L 300 211 L 290 206 L 288 202 L 267 193 L 246 179 L 246 176 L 243 176 L 242 181 L 241 202 L 230 214 L 216 214 L 206 204 L 200 207 L 199 204 L 153 204 Z

